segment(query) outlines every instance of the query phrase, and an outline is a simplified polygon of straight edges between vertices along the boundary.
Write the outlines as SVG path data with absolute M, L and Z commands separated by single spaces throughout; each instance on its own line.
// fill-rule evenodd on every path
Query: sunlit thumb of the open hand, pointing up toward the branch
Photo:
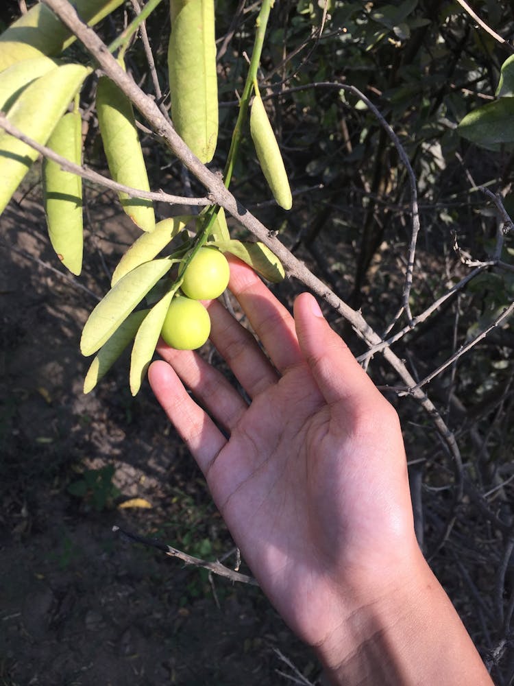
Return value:
M 299 346 L 327 403 L 382 397 L 310 293 L 296 298 L 294 313 Z

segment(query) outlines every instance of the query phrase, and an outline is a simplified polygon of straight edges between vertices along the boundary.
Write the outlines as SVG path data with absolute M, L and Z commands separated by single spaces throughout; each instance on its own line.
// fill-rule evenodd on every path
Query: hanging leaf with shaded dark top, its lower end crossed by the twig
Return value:
M 107 76 L 102 76 L 98 82 L 97 115 L 112 178 L 124 186 L 149 191 L 132 103 Z M 131 198 L 127 193 L 119 193 L 119 198 L 124 211 L 139 228 L 154 230 L 156 217 L 151 200 Z

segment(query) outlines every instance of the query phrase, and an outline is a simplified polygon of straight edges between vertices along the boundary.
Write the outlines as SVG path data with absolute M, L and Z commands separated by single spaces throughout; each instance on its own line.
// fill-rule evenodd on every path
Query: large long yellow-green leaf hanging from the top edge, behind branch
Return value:
M 171 0 L 168 72 L 171 118 L 201 162 L 212 160 L 218 138 L 214 0 Z

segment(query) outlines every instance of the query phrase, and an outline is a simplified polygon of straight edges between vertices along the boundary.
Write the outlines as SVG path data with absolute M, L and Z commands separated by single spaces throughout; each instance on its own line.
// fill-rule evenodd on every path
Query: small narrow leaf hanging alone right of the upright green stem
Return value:
M 259 92 L 256 89 L 252 110 L 250 112 L 250 133 L 254 141 L 262 174 L 273 193 L 273 198 L 284 210 L 293 206 L 291 188 L 287 178 L 284 161 L 280 154 L 277 139 L 269 123 L 268 115 Z

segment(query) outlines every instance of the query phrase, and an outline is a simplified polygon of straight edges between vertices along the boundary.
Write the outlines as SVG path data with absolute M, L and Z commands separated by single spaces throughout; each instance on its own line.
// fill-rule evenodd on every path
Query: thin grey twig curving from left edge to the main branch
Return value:
M 130 186 L 125 186 L 122 183 L 118 183 L 117 181 L 113 181 L 112 179 L 107 178 L 106 176 L 98 174 L 98 172 L 93 171 L 93 169 L 88 169 L 88 167 L 81 167 L 80 165 L 76 165 L 74 162 L 67 160 L 65 157 L 62 157 L 62 155 L 59 155 L 53 150 L 51 150 L 50 147 L 47 147 L 46 145 L 41 145 L 37 141 L 34 141 L 34 139 L 26 136 L 23 133 L 23 131 L 20 131 L 19 128 L 16 128 L 16 126 L 10 123 L 9 119 L 5 116 L 3 112 L 0 112 L 0 128 L 8 132 L 8 134 L 11 134 L 11 136 L 14 136 L 14 138 L 17 138 L 26 145 L 29 145 L 29 147 L 33 147 L 34 150 L 37 150 L 38 153 L 42 156 L 47 157 L 49 160 L 52 160 L 53 162 L 56 162 L 58 165 L 60 165 L 61 169 L 64 169 L 64 171 L 69 171 L 71 174 L 77 174 L 77 176 L 81 176 L 82 178 L 85 178 L 88 181 L 97 183 L 101 186 L 105 186 L 106 188 L 110 188 L 113 191 L 118 191 L 119 193 L 127 193 L 127 196 L 130 196 L 131 198 L 145 198 L 145 200 L 169 202 L 170 204 L 211 204 L 208 198 L 185 198 L 183 196 L 171 196 L 169 193 L 164 193 L 163 191 L 158 191 L 156 193 L 154 193 L 154 191 L 142 191 L 140 189 L 132 188 Z

